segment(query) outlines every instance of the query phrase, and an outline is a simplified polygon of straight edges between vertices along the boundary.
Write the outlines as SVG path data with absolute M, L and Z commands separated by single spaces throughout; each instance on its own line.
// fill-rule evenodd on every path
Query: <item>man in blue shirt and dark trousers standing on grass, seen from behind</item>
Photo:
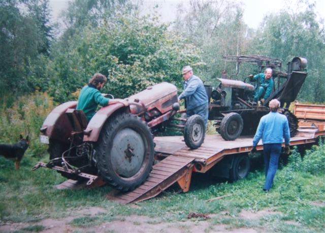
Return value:
M 286 154 L 290 153 L 290 130 L 288 120 L 285 115 L 277 112 L 280 102 L 273 99 L 269 103 L 270 113 L 264 115 L 259 121 L 255 136 L 253 138 L 253 149 L 256 152 L 256 145 L 262 138 L 263 154 L 265 164 L 265 184 L 263 190 L 268 192 L 273 184 L 276 170 L 278 169 L 279 157 L 281 153 L 281 143 L 284 138 Z

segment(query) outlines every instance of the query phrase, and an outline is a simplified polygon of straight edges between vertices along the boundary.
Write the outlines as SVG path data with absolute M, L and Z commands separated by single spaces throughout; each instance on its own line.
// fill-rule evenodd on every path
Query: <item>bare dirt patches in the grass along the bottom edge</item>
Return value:
M 70 225 L 74 218 L 83 216 L 93 217 L 96 214 L 105 213 L 106 210 L 102 208 L 89 208 L 80 211 L 75 211 L 71 217 L 64 219 L 43 219 L 39 222 L 33 223 L 11 223 L 0 225 L 0 232 L 13 232 L 22 230 L 25 227 L 32 225 L 42 225 L 45 227 L 41 232 L 259 232 L 261 229 L 253 228 L 230 228 L 228 225 L 219 224 L 214 225 L 210 219 L 201 220 L 192 218 L 182 222 L 161 222 L 158 219 L 152 219 L 147 216 L 117 216 L 116 220 L 102 223 L 101 225 L 91 227 L 75 227 Z M 228 213 L 222 212 L 219 215 L 227 215 Z M 267 210 L 250 212 L 243 211 L 240 213 L 242 219 L 259 219 L 265 215 L 280 214 L 278 212 L 271 212 Z M 213 218 L 217 215 L 210 215 Z

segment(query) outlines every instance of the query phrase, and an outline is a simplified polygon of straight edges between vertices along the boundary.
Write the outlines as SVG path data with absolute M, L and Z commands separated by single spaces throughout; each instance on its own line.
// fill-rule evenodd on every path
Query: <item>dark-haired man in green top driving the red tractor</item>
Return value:
M 77 110 L 83 110 L 88 122 L 96 113 L 98 105 L 107 106 L 115 103 L 122 103 L 128 106 L 128 102 L 123 99 L 105 98 L 100 90 L 103 88 L 107 78 L 105 75 L 96 73 L 90 78 L 88 85 L 84 86 L 79 94 Z

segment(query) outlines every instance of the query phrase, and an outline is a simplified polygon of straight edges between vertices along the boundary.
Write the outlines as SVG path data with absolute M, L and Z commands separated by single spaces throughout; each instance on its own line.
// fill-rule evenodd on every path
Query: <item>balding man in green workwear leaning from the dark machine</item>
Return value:
M 251 81 L 257 81 L 255 88 L 254 101 L 261 100 L 263 103 L 273 91 L 274 81 L 272 78 L 272 69 L 266 68 L 264 74 L 249 75 Z

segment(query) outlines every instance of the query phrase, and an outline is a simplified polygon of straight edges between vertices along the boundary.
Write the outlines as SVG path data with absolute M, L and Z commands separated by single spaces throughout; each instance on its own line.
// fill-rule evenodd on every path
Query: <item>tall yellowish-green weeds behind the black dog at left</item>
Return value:
M 46 147 L 39 140 L 40 127 L 53 109 L 52 98 L 46 93 L 34 93 L 13 100 L 10 96 L 2 99 L 0 105 L 0 140 L 2 143 L 15 143 L 19 135 L 29 135 L 27 150 L 32 156 L 43 156 Z

